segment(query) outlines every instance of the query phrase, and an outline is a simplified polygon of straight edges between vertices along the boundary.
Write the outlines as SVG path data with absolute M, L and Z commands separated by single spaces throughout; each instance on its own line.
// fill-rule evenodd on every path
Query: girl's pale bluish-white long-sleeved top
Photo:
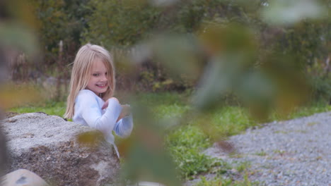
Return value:
M 81 90 L 75 100 L 72 120 L 74 123 L 87 125 L 103 132 L 105 140 L 114 145 L 117 156 L 119 156 L 112 130 L 120 137 L 129 136 L 133 128 L 132 115 L 130 114 L 116 122 L 122 111 L 122 106 L 115 99 L 109 99 L 108 107 L 102 110 L 103 104 L 105 101 L 91 90 Z

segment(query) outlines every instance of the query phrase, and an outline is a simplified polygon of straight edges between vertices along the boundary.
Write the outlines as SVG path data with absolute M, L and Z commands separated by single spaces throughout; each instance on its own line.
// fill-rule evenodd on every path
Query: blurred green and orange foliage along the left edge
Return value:
M 16 11 L 17 9 L 20 11 Z M 8 80 L 8 66 L 15 63 L 13 60 L 19 53 L 33 55 L 37 51 L 37 42 L 33 34 L 33 13 L 28 6 L 18 1 L 0 1 L 0 184 L 2 176 L 6 173 L 6 137 L 2 132 L 1 121 L 3 110 L 11 108 L 20 102 L 33 99 L 35 91 L 27 87 L 14 89 L 4 82 Z

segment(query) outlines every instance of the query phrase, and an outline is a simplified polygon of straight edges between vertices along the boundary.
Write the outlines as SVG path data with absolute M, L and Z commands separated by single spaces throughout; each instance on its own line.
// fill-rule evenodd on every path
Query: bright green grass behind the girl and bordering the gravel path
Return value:
M 153 111 L 153 117 L 160 120 L 167 120 L 168 123 L 180 123 L 173 129 L 167 129 L 165 136 L 165 147 L 170 151 L 173 160 L 180 172 L 182 180 L 196 178 L 202 173 L 210 173 L 218 168 L 219 173 L 224 173 L 229 168 L 221 160 L 211 159 L 202 154 L 202 151 L 210 147 L 216 140 L 224 140 L 231 135 L 239 134 L 245 129 L 258 125 L 248 115 L 247 109 L 240 106 L 223 106 L 222 109 L 212 113 L 198 114 L 190 106 L 190 99 L 187 94 L 178 93 L 149 93 L 138 94 L 133 101 L 149 106 Z M 122 99 L 120 99 L 122 100 Z M 129 102 L 131 104 L 132 101 Z M 17 113 L 45 112 L 49 115 L 63 116 L 65 102 L 49 101 L 45 104 L 35 106 L 21 106 L 10 111 Z M 331 111 L 331 106 L 323 103 L 310 104 L 295 109 L 288 116 L 281 117 L 272 113 L 269 120 L 284 120 L 303 116 L 310 116 L 313 113 Z M 257 154 L 265 155 L 265 154 Z M 203 180 L 202 185 L 215 185 L 214 182 L 222 185 L 240 185 L 242 182 L 231 180 Z M 200 184 L 200 185 L 201 185 Z

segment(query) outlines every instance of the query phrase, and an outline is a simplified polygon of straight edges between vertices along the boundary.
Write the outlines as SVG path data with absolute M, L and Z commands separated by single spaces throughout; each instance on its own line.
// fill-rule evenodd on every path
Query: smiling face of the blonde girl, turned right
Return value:
M 108 70 L 100 58 L 95 58 L 91 68 L 91 77 L 88 81 L 86 89 L 89 89 L 99 95 L 106 92 L 108 87 Z

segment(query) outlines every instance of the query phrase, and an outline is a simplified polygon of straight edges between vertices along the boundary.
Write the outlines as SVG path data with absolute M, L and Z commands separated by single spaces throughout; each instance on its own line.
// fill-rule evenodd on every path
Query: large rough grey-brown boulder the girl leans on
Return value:
M 25 168 L 51 185 L 104 185 L 116 182 L 119 161 L 112 146 L 86 146 L 81 133 L 95 130 L 45 113 L 25 113 L 4 120 L 9 168 Z M 95 135 L 91 135 L 92 138 Z M 88 137 L 91 137 L 88 135 Z M 83 140 L 88 137 L 83 137 Z M 98 144 L 98 143 L 96 143 Z

